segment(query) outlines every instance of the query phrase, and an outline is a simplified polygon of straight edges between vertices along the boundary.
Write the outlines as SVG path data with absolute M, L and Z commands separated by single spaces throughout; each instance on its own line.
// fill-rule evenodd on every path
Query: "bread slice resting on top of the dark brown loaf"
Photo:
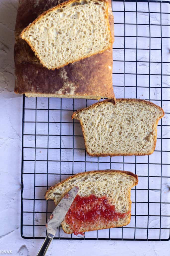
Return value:
M 90 57 L 111 47 L 107 0 L 69 0 L 41 14 L 22 33 L 48 69 Z

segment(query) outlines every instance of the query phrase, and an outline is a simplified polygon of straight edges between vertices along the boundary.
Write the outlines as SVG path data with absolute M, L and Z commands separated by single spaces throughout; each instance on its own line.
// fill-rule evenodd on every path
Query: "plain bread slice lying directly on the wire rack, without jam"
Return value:
M 161 107 L 139 99 L 95 103 L 73 113 L 80 120 L 90 156 L 150 155 L 154 152 Z

